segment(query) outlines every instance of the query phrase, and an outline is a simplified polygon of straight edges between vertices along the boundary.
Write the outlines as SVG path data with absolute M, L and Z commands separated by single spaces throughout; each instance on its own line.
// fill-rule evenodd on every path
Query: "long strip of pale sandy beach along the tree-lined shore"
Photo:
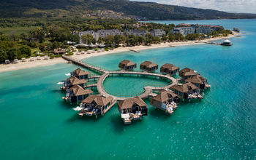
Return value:
M 163 48 L 163 47 L 178 47 L 178 46 L 187 46 L 187 45 L 195 45 L 195 44 L 205 44 L 208 41 L 215 41 L 220 39 L 229 39 L 236 37 L 240 35 L 241 33 L 234 33 L 229 36 L 221 36 L 217 38 L 211 38 L 211 39 L 204 39 L 199 41 L 178 41 L 178 42 L 166 42 L 161 44 L 151 44 L 151 46 L 135 46 L 135 47 L 118 47 L 114 50 L 110 51 L 104 51 L 104 52 L 95 52 L 91 54 L 84 54 L 84 55 L 72 55 L 71 57 L 75 57 L 79 60 L 89 58 L 89 57 L 96 57 L 101 55 L 110 55 L 113 53 L 118 52 L 130 52 L 131 49 L 133 50 L 145 50 L 145 49 L 157 49 L 157 48 Z M 32 62 L 29 61 L 29 59 L 26 59 L 26 62 L 23 63 L 10 63 L 8 65 L 1 64 L 0 65 L 0 73 L 7 72 L 7 71 L 16 71 L 20 69 L 27 69 L 27 68 L 34 68 L 34 67 L 41 67 L 45 65 L 54 65 L 57 63 L 67 63 L 67 60 L 64 60 L 62 57 L 49 59 L 49 60 L 34 60 Z

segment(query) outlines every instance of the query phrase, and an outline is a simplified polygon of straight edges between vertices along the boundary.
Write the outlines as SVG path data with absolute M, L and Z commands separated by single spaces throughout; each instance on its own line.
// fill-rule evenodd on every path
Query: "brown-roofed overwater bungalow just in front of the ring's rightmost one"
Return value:
M 203 96 L 200 95 L 200 89 L 191 82 L 182 85 L 176 84 L 170 89 L 172 89 L 176 95 L 186 100 L 203 99 Z

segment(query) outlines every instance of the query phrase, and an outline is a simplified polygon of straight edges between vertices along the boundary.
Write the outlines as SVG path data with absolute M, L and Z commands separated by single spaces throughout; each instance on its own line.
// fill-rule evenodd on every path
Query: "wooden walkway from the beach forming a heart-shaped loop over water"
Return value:
M 178 84 L 177 79 L 174 79 L 172 76 L 167 76 L 167 75 L 162 75 L 162 74 L 157 74 L 157 73 L 147 73 L 147 72 L 136 72 L 136 71 L 106 71 L 102 68 L 98 68 L 96 66 L 93 65 L 89 65 L 87 63 L 83 63 L 81 60 L 72 58 L 72 57 L 67 57 L 65 55 L 62 56 L 65 60 L 68 61 L 72 61 L 72 63 L 80 65 L 84 68 L 89 68 L 93 71 L 97 71 L 99 73 L 102 73 L 102 76 L 94 76 L 94 79 L 97 78 L 97 84 L 89 84 L 86 85 L 84 88 L 93 88 L 93 87 L 97 87 L 97 90 L 99 92 L 100 95 L 105 95 L 106 97 L 111 96 L 114 98 L 114 100 L 125 100 L 127 98 L 132 98 L 132 97 L 140 97 L 142 99 L 145 99 L 153 94 L 153 90 L 162 90 L 162 89 L 169 89 L 170 87 L 173 87 L 173 85 Z M 129 96 L 127 95 L 127 97 L 123 97 L 121 95 L 117 95 L 114 96 L 114 94 L 108 93 L 103 86 L 103 83 L 105 81 L 105 79 L 110 76 L 110 75 L 114 75 L 114 74 L 119 74 L 119 75 L 141 75 L 141 76 L 154 76 L 154 77 L 159 77 L 160 79 L 168 79 L 170 81 L 172 81 L 171 84 L 166 85 L 164 87 L 152 87 L 150 85 L 146 85 L 144 87 L 144 92 L 140 93 L 139 95 L 136 96 Z M 92 77 L 91 77 L 92 78 Z

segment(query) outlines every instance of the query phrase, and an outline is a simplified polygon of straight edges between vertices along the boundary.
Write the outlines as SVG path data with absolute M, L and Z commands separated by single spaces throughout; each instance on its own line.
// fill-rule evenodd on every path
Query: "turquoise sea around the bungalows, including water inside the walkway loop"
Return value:
M 0 159 L 256 159 L 256 20 L 194 22 L 236 26 L 246 35 L 231 39 L 232 47 L 200 44 L 86 60 L 108 69 L 124 59 L 195 69 L 211 90 L 201 101 L 181 104 L 172 116 L 146 100 L 148 116 L 129 126 L 116 105 L 99 119 L 80 118 L 56 85 L 75 65 L 0 73 Z M 166 82 L 110 77 L 104 85 L 129 94 L 148 83 Z

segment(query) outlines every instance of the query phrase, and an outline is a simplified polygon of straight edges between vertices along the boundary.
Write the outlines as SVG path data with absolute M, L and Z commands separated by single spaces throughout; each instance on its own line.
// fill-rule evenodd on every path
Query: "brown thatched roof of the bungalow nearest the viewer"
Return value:
M 132 108 L 133 105 L 139 105 L 140 107 L 146 107 L 146 103 L 140 97 L 129 98 L 121 100 L 117 103 L 119 109 Z

